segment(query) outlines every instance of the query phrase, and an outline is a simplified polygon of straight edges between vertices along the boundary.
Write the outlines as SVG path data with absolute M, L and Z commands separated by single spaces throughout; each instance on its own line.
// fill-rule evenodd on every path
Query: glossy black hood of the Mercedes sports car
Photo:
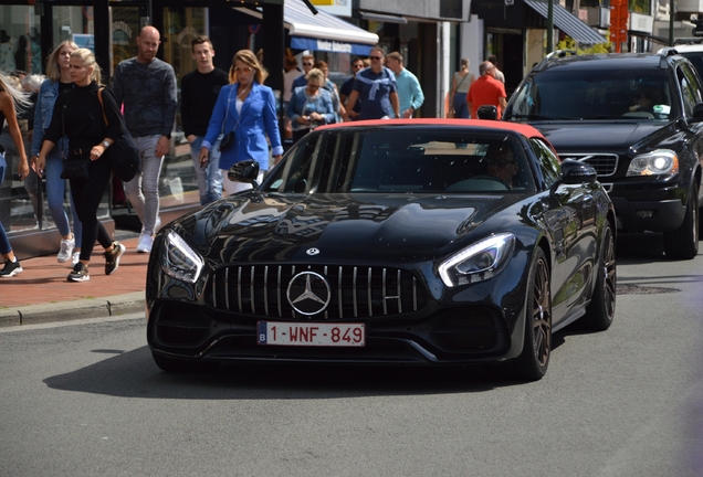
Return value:
M 497 219 L 501 231 L 510 229 L 518 216 L 506 209 L 518 201 L 517 194 L 250 192 L 220 200 L 172 226 L 201 254 L 214 253 L 213 259 L 292 259 L 312 247 L 339 256 L 361 250 L 367 256 L 403 251 L 417 257 L 461 247 L 489 218 Z

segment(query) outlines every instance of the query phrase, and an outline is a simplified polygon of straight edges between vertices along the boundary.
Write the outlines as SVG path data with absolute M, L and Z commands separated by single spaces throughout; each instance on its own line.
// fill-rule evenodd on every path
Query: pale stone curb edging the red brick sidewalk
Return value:
M 144 311 L 144 292 L 0 309 L 0 328 Z

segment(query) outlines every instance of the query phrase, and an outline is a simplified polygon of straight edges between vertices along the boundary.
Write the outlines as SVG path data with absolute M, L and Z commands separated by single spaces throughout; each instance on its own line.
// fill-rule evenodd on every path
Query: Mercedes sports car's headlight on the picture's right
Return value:
M 491 235 L 450 256 L 439 266 L 439 274 L 448 287 L 482 282 L 500 274 L 513 256 L 515 235 Z

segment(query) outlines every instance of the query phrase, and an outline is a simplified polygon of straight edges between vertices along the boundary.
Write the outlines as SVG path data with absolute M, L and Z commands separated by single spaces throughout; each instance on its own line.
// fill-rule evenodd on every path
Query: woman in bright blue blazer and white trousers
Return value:
M 258 181 L 269 170 L 269 142 L 275 163 L 283 155 L 276 100 L 273 89 L 264 86 L 263 68 L 251 50 L 240 50 L 232 59 L 230 83 L 220 89 L 212 109 L 208 132 L 200 149 L 200 163 L 208 162 L 210 151 L 219 135 L 222 190 L 228 194 L 251 189 L 250 184 L 231 181 L 227 172 L 235 162 L 254 159 L 259 162 Z M 265 134 L 264 134 L 265 132 Z

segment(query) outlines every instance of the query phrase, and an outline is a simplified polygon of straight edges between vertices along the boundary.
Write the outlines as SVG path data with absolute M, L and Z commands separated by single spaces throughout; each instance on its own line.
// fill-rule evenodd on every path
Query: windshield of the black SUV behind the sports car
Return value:
M 506 119 L 669 119 L 672 94 L 665 70 L 560 71 L 532 76 L 517 92 Z

